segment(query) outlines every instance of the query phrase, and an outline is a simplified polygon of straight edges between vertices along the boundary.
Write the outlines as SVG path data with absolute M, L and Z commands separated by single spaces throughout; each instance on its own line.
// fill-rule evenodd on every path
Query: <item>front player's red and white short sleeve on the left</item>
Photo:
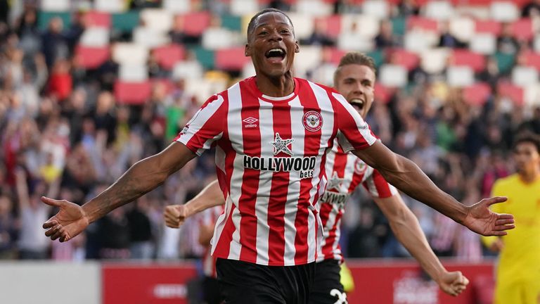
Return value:
M 174 140 L 186 145 L 200 156 L 205 150 L 210 149 L 214 141 L 221 138 L 225 122 L 224 98 L 216 94 L 200 107 Z

